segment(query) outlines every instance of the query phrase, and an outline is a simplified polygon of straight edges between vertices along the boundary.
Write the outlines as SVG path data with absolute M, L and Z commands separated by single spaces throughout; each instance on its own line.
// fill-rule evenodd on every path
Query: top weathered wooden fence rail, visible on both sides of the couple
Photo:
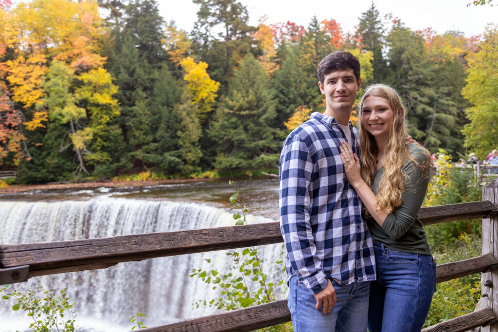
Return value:
M 496 211 L 490 201 L 420 209 L 424 224 L 479 218 Z M 109 238 L 0 245 L 0 268 L 29 265 L 29 276 L 102 269 L 120 262 L 282 242 L 278 222 Z

